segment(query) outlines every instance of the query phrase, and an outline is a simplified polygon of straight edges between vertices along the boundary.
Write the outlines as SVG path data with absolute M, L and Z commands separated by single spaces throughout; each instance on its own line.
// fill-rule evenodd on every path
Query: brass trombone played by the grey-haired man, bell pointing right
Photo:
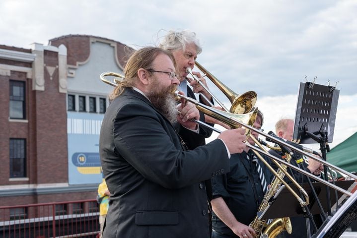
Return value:
M 196 75 L 192 73 L 191 68 L 187 68 L 187 72 L 191 74 L 191 76 L 205 88 L 207 92 L 211 94 L 214 100 L 221 106 L 226 112 L 231 112 L 233 114 L 246 114 L 254 110 L 254 105 L 257 101 L 257 93 L 254 91 L 248 91 L 241 95 L 233 92 L 227 86 L 225 86 L 221 81 L 219 81 L 213 74 L 211 74 L 206 68 L 204 68 L 200 63 L 195 61 L 196 67 L 198 67 L 203 73 L 203 77 L 207 76 L 213 83 L 216 85 L 220 91 L 224 93 L 224 95 L 229 99 L 232 104 L 230 109 L 227 110 L 224 105 L 214 97 L 214 95 L 210 92 L 210 90 L 199 80 Z

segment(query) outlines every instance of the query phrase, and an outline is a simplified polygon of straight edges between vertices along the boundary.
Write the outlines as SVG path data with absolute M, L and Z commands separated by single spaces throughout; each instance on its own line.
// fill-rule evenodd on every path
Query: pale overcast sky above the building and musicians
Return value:
M 357 0 L 1 0 L 0 44 L 28 49 L 86 34 L 140 48 L 162 29 L 190 29 L 203 46 L 201 64 L 233 91 L 257 92 L 266 130 L 294 117 L 305 75 L 339 81 L 333 146 L 357 131 L 356 16 Z

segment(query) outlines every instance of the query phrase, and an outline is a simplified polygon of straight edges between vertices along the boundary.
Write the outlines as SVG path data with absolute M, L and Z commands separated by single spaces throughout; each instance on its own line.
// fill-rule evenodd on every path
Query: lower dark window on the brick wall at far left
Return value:
M 10 139 L 10 178 L 26 177 L 26 140 Z

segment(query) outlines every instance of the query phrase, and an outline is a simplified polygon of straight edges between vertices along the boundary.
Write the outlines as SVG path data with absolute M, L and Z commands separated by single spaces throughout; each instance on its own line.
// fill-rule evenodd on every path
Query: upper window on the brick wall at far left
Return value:
M 25 82 L 10 80 L 11 119 L 25 119 Z

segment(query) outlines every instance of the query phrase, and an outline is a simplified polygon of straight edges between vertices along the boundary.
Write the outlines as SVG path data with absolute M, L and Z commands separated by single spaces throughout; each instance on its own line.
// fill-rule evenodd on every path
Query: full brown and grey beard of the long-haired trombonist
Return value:
M 158 90 L 158 84 L 156 81 L 152 83 L 149 93 L 146 95 L 154 107 L 172 124 L 177 121 L 177 103 L 173 94 L 176 88 L 177 86 L 173 84 L 166 90 Z

